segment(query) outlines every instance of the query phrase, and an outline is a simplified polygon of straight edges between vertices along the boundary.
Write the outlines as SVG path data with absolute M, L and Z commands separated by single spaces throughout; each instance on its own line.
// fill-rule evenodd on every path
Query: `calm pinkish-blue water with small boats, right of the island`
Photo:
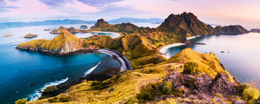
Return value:
M 175 46 L 168 48 L 166 52 L 173 56 L 188 47 L 200 53 L 213 52 L 227 71 L 238 81 L 243 83 L 246 79 L 250 81 L 252 77 L 255 81 L 260 78 L 260 33 L 217 34 L 196 38 L 198 39 L 190 41 L 206 45 Z M 225 53 L 221 53 L 221 51 L 225 51 Z

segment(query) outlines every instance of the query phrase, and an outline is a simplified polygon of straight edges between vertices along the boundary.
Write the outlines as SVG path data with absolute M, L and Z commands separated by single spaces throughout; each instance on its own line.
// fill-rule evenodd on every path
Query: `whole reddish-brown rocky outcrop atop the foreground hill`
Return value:
M 218 73 L 214 79 L 211 78 L 213 76 L 207 74 L 195 73 L 194 75 L 185 75 L 175 71 L 172 75 L 167 76 L 164 81 L 172 81 L 174 92 L 178 92 L 180 88 L 184 89 L 182 97 L 192 100 L 204 100 L 204 102 L 211 102 L 213 99 L 218 103 L 224 103 L 224 97 L 229 100 L 231 95 L 238 93 L 235 90 L 235 86 L 238 84 L 230 81 L 227 74 Z M 164 82 L 159 87 L 159 90 L 163 89 L 163 86 Z M 223 98 L 214 95 L 217 93 L 221 94 Z M 184 103 L 191 104 L 190 101 Z

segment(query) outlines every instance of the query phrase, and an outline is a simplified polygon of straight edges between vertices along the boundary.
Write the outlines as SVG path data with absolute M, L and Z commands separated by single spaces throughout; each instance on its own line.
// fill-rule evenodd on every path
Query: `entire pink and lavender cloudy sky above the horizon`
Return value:
M 259 0 L 0 0 L 0 22 L 167 18 L 192 12 L 204 23 L 260 27 Z

